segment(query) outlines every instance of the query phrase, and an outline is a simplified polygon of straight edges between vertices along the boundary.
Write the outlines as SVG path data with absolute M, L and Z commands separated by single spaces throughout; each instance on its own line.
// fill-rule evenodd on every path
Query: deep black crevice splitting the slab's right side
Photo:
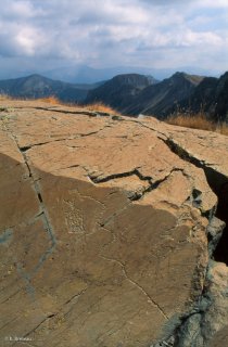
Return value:
M 223 235 L 218 242 L 218 245 L 213 253 L 213 258 L 216 261 L 221 261 L 228 265 L 228 177 L 216 171 L 212 167 L 207 166 L 205 162 L 200 160 L 192 155 L 190 155 L 185 149 L 177 144 L 173 139 L 163 140 L 168 147 L 177 154 L 181 159 L 193 164 L 194 166 L 202 168 L 204 170 L 207 183 L 212 191 L 217 195 L 218 204 L 215 211 L 215 217 L 220 219 L 226 223 L 223 231 Z M 193 192 L 192 192 L 193 193 Z M 195 192 L 197 193 L 197 192 Z M 205 215 L 208 219 L 212 216 Z

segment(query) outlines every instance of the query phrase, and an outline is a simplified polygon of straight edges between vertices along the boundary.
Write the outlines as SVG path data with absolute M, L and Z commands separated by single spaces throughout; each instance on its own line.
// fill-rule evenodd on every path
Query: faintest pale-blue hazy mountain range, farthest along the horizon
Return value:
M 47 64 L 43 64 L 47 66 Z M 91 67 L 85 64 L 72 64 L 68 66 L 58 66 L 54 68 L 43 68 L 42 64 L 37 64 L 36 61 L 30 64 L 15 64 L 10 68 L 5 66 L 0 68 L 0 79 L 20 78 L 33 74 L 39 74 L 54 80 L 62 80 L 69 83 L 97 83 L 100 80 L 107 80 L 117 75 L 123 74 L 139 74 L 150 75 L 159 80 L 163 80 L 177 70 L 186 72 L 187 74 L 195 74 L 200 76 L 218 77 L 221 73 L 219 70 L 208 70 L 204 68 L 197 68 L 192 66 L 181 66 L 177 68 L 153 68 L 150 66 L 113 66 L 113 67 Z

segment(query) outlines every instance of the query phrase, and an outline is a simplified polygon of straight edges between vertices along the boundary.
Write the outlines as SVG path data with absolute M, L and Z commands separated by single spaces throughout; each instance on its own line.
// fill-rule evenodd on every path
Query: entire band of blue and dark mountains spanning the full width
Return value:
M 40 75 L 0 81 L 0 93 L 16 98 L 55 95 L 64 102 L 102 102 L 125 115 L 166 118 L 176 112 L 204 111 L 228 121 L 228 73 L 219 78 L 175 73 L 162 81 L 152 76 L 123 74 L 97 83 L 68 83 Z

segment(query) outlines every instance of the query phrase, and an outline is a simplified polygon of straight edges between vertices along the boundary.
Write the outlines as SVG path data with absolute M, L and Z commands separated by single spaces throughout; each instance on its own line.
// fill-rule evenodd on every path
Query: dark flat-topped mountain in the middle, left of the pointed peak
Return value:
M 118 75 L 89 91 L 85 103 L 103 102 L 106 105 L 125 112 L 144 88 L 155 82 L 156 80 L 150 76 L 138 74 Z

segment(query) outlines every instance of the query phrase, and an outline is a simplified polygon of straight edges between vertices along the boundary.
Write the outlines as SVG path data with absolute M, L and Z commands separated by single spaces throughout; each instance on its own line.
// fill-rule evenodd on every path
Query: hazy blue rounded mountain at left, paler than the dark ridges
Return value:
M 55 95 L 61 101 L 80 102 L 90 89 L 96 85 L 74 85 L 60 80 L 52 80 L 40 75 L 0 80 L 0 93 L 5 93 L 16 98 L 46 98 Z

